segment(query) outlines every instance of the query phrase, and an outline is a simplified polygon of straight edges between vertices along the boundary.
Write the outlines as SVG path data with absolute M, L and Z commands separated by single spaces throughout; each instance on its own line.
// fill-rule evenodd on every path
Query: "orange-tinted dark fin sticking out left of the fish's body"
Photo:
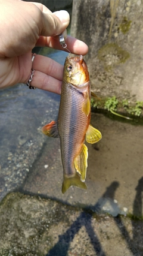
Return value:
M 45 125 L 45 127 L 42 128 L 42 132 L 49 137 L 58 138 L 58 128 L 57 128 L 57 122 L 52 121 L 48 125 Z

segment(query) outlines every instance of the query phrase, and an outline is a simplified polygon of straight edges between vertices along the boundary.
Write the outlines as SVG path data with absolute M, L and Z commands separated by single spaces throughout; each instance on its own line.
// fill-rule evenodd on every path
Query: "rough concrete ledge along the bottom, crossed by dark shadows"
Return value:
M 0 207 L 1 256 L 142 256 L 143 222 L 11 193 Z

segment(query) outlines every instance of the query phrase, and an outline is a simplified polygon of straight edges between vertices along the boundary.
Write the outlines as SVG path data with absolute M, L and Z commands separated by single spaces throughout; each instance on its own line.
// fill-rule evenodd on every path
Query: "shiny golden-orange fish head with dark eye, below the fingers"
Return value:
M 87 85 L 89 73 L 82 55 L 66 58 L 63 79 L 76 87 L 83 88 Z

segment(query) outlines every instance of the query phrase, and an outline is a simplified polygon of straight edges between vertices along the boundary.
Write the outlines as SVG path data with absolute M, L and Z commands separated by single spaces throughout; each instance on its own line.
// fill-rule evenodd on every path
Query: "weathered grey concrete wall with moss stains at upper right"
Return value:
M 71 35 L 85 41 L 91 87 L 101 96 L 143 100 L 143 1 L 73 0 Z

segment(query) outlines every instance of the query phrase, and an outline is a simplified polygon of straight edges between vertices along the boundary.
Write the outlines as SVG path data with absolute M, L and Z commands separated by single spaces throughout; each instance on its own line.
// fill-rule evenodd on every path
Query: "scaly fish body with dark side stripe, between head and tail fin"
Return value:
M 60 109 L 58 114 L 58 133 L 61 143 L 61 159 L 64 176 L 73 177 L 76 174 L 74 159 L 79 155 L 85 141 L 90 116 L 82 112 L 84 102 L 82 93 L 72 85 L 62 86 Z

